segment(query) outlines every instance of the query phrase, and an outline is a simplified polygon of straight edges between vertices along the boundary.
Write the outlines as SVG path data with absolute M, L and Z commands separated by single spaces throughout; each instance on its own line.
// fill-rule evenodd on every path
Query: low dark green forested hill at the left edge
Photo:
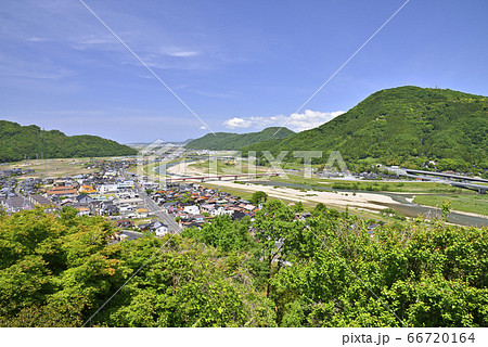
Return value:
M 0 120 L 0 163 L 25 157 L 72 158 L 134 155 L 137 151 L 112 140 L 81 134 L 67 137 L 59 130 L 44 131 L 38 126 L 23 127 Z

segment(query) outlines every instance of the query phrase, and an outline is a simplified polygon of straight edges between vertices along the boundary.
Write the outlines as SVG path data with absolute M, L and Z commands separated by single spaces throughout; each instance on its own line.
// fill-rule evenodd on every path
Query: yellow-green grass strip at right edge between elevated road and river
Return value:
M 488 216 L 488 195 L 481 194 L 445 194 L 416 195 L 414 203 L 427 206 L 440 206 L 445 201 L 451 202 L 453 210 Z

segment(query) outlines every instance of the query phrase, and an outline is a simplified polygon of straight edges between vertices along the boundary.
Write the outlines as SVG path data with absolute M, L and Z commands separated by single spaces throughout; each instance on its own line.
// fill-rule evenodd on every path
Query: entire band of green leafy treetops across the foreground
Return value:
M 488 326 L 486 228 L 371 234 L 323 204 L 298 211 L 270 201 L 253 221 L 118 244 L 72 208 L 1 215 L 0 325 Z

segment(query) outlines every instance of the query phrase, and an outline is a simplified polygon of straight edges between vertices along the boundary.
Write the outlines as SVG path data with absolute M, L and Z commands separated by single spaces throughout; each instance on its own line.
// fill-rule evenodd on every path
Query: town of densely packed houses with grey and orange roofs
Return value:
M 216 216 L 232 220 L 254 217 L 259 206 L 240 196 L 197 183 L 158 183 L 128 174 L 134 160 L 102 160 L 92 164 L 93 175 L 64 178 L 16 177 L 33 169 L 0 171 L 0 206 L 17 213 L 36 206 L 73 207 L 80 216 L 105 216 L 119 228 L 117 239 L 137 239 L 138 232 L 156 236 L 179 233 L 189 227 L 202 228 Z

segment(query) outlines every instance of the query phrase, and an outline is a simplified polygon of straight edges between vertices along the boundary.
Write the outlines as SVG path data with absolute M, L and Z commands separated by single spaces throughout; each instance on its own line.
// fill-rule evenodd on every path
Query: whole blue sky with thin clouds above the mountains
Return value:
M 488 2 L 85 2 L 213 131 L 318 126 L 385 88 L 488 95 Z M 294 115 L 293 115 L 294 114 Z M 79 0 L 3 0 L 0 119 L 119 142 L 207 132 Z

